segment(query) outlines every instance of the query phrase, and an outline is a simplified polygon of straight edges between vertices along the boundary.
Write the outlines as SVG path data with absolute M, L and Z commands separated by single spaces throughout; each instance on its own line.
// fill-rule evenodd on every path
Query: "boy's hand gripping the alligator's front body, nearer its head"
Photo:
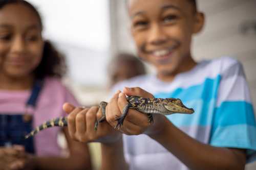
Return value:
M 123 108 L 127 105 L 126 95 L 137 95 L 142 98 L 154 98 L 154 96 L 139 88 L 124 88 L 123 93 L 118 92 L 118 96 L 115 94 L 111 99 L 110 103 L 106 106 L 106 120 L 112 127 L 117 125 L 115 120 L 117 116 L 121 116 Z M 163 115 L 153 115 L 154 123 L 148 123 L 147 114 L 141 113 L 135 109 L 129 109 L 129 113 L 124 119 L 123 126 L 119 129 L 120 132 L 127 135 L 139 135 L 142 133 L 145 134 L 155 134 L 159 133 L 164 125 L 163 121 L 165 116 Z

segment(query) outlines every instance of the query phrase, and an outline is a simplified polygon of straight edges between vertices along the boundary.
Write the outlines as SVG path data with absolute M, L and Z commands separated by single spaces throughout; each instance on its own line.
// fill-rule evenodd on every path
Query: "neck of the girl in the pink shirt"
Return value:
M 34 76 L 26 76 L 19 78 L 8 77 L 0 73 L 0 89 L 1 90 L 28 90 L 31 89 L 34 82 Z

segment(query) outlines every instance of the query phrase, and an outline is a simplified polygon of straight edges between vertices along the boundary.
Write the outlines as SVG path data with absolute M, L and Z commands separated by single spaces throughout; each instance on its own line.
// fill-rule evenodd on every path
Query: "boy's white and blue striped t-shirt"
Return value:
M 223 57 L 202 61 L 171 83 L 156 76 L 140 76 L 117 84 L 141 87 L 155 98 L 179 98 L 195 113 L 172 114 L 168 119 L 189 136 L 215 147 L 245 149 L 247 162 L 256 158 L 256 123 L 242 65 Z M 147 135 L 124 135 L 130 169 L 188 169 L 172 153 Z M 200 151 L 199 151 L 200 152 Z

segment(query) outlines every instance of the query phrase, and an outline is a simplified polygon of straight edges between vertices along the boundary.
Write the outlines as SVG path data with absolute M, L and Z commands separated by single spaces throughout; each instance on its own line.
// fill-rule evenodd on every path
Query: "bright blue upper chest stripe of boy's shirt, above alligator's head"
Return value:
M 221 76 L 215 79 L 206 78 L 201 84 L 188 88 L 177 88 L 172 92 L 160 92 L 154 94 L 155 98 L 179 98 L 182 101 L 204 100 L 211 101 L 217 98 Z

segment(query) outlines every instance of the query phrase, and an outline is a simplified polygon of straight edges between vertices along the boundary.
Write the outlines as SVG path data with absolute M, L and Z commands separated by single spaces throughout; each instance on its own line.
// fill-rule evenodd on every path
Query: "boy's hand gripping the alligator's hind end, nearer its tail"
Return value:
M 121 133 L 115 131 L 108 122 L 104 121 L 94 130 L 96 119 L 102 116 L 98 107 L 81 108 L 69 103 L 63 105 L 68 116 L 68 130 L 72 139 L 80 142 L 113 143 L 121 139 Z

